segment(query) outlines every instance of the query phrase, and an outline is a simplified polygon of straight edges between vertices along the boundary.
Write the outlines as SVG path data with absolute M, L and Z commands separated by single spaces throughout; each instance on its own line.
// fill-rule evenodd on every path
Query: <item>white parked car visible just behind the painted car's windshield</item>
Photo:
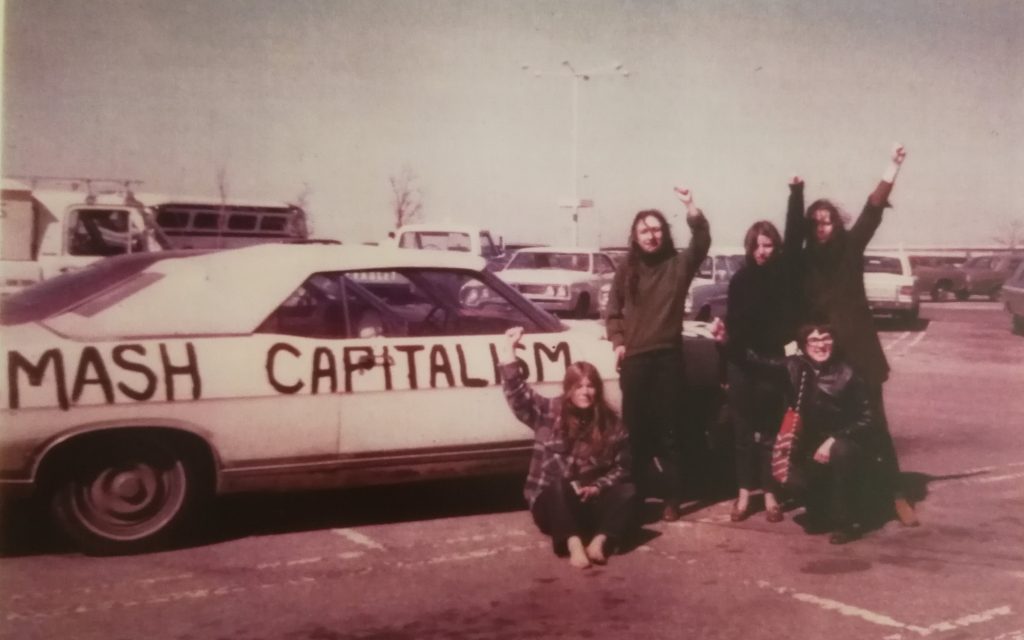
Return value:
M 509 260 L 498 276 L 542 308 L 590 317 L 599 314 L 601 287 L 615 265 L 596 249 L 530 247 Z

